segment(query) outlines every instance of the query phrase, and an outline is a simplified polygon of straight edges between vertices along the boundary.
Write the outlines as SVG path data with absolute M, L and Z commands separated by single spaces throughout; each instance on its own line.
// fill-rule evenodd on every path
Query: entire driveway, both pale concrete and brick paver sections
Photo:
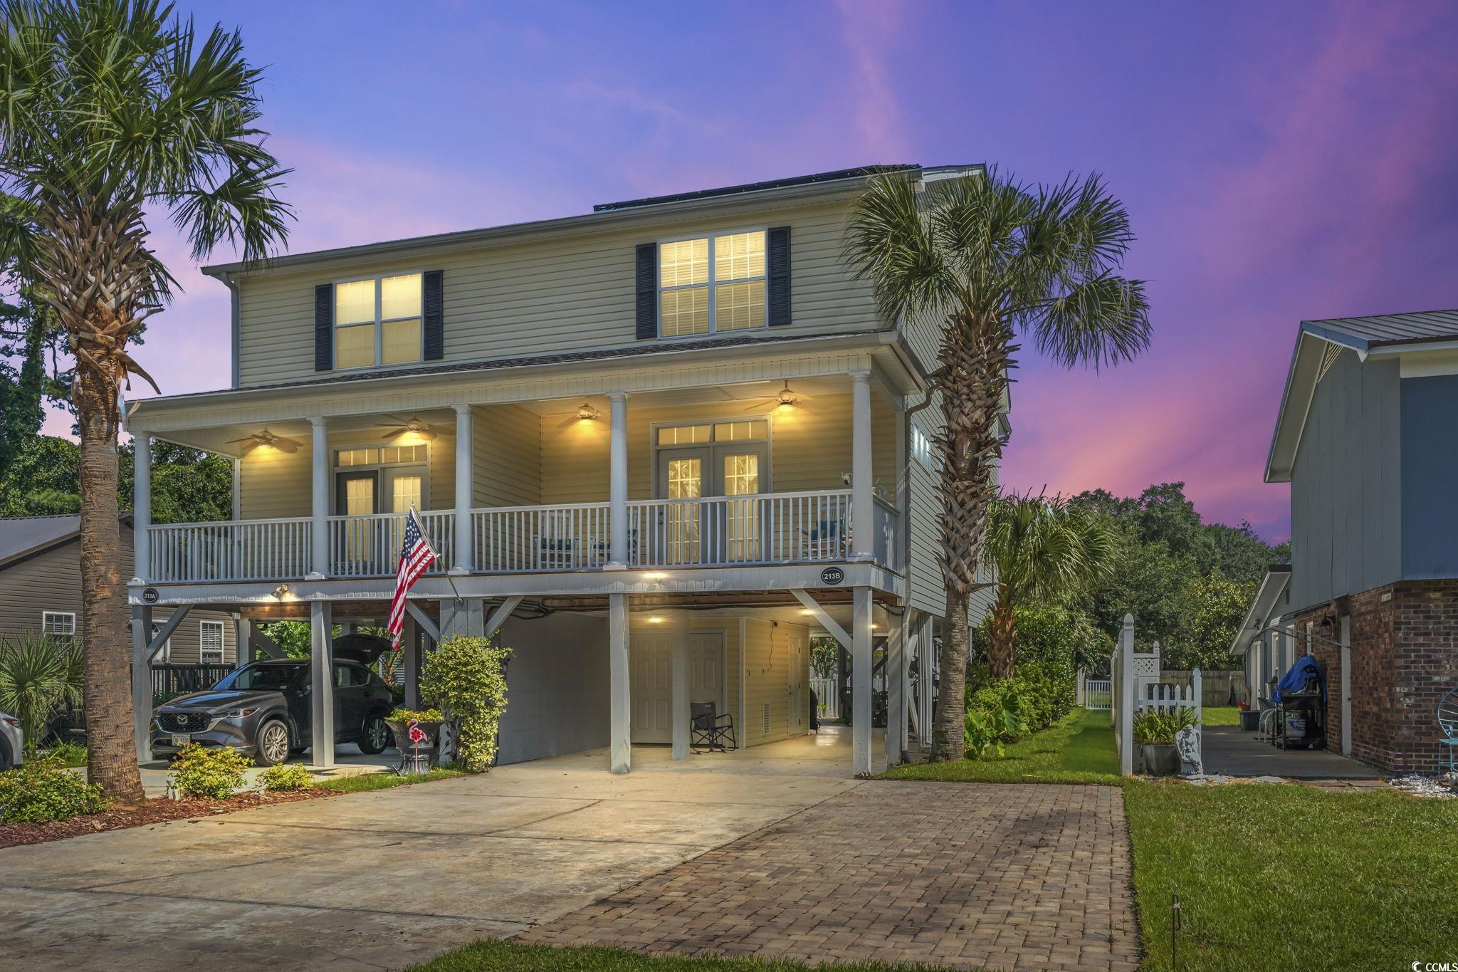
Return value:
M 627 777 L 583 753 L 0 850 L 0 966 L 398 968 L 522 933 L 814 959 L 1131 955 L 1114 790 L 847 780 L 828 736 L 634 759 Z

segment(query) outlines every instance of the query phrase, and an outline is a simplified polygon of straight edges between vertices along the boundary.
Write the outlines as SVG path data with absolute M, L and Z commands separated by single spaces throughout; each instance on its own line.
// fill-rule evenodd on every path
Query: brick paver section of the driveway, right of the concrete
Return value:
M 1134 969 L 1123 797 L 1114 787 L 872 781 L 521 937 Z

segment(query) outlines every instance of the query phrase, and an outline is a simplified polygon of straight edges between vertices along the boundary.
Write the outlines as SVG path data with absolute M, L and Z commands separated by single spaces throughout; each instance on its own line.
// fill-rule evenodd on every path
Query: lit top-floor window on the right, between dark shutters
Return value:
M 764 230 L 659 245 L 659 335 L 763 328 Z

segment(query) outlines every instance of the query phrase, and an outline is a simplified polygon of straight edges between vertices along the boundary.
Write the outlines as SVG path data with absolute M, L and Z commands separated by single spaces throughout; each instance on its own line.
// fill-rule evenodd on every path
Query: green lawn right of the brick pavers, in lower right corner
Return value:
M 1146 969 L 1406 969 L 1458 943 L 1458 800 L 1124 785 Z

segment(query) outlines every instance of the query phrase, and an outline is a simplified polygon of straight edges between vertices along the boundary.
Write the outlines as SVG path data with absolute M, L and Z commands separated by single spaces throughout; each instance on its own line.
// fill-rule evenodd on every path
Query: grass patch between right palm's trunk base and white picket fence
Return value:
M 967 783 L 1118 784 L 1114 727 L 1107 711 L 1076 708 L 1035 736 L 1007 746 L 1003 756 L 952 759 L 897 767 L 885 780 Z

